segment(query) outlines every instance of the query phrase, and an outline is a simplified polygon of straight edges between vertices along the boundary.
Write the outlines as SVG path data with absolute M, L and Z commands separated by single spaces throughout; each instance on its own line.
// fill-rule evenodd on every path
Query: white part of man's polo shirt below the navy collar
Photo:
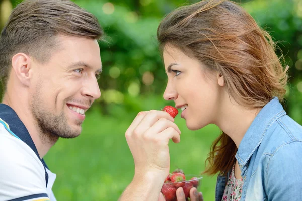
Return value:
M 0 118 L 0 201 L 56 201 L 51 190 L 56 175 L 45 169 L 37 154 L 15 137 Z

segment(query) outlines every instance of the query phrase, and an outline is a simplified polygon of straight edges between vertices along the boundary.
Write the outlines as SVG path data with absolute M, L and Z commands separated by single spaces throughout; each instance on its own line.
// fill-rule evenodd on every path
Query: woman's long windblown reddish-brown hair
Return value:
M 269 33 L 234 2 L 206 0 L 180 7 L 162 20 L 157 38 L 162 53 L 169 45 L 220 72 L 229 95 L 242 106 L 261 108 L 285 95 L 288 66 L 284 70 Z M 236 152 L 233 140 L 222 132 L 204 173 L 226 173 Z

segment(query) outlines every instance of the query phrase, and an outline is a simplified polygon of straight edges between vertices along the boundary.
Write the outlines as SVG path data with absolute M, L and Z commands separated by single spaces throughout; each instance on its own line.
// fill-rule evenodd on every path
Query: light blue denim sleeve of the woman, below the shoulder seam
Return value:
M 302 141 L 292 140 L 265 153 L 263 184 L 269 200 L 301 200 Z M 298 198 L 299 197 L 299 198 Z M 295 199 L 296 198 L 296 199 Z

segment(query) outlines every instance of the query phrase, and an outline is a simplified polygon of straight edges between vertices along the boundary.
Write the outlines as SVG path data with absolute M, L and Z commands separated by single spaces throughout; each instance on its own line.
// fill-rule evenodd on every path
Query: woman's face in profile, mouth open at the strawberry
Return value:
M 223 77 L 172 46 L 166 45 L 163 54 L 168 76 L 164 98 L 174 100 L 176 108 L 181 108 L 181 117 L 190 130 L 215 123 L 222 101 L 219 97 Z

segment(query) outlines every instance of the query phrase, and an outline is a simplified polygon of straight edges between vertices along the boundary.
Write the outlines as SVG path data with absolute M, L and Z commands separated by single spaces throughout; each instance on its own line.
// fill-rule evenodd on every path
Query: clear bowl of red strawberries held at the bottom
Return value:
M 200 175 L 185 175 L 181 169 L 176 169 L 169 173 L 164 181 L 161 193 L 164 195 L 166 201 L 176 201 L 176 190 L 182 187 L 186 199 L 190 198 L 190 190 L 195 187 L 197 190 L 200 187 L 202 176 Z

